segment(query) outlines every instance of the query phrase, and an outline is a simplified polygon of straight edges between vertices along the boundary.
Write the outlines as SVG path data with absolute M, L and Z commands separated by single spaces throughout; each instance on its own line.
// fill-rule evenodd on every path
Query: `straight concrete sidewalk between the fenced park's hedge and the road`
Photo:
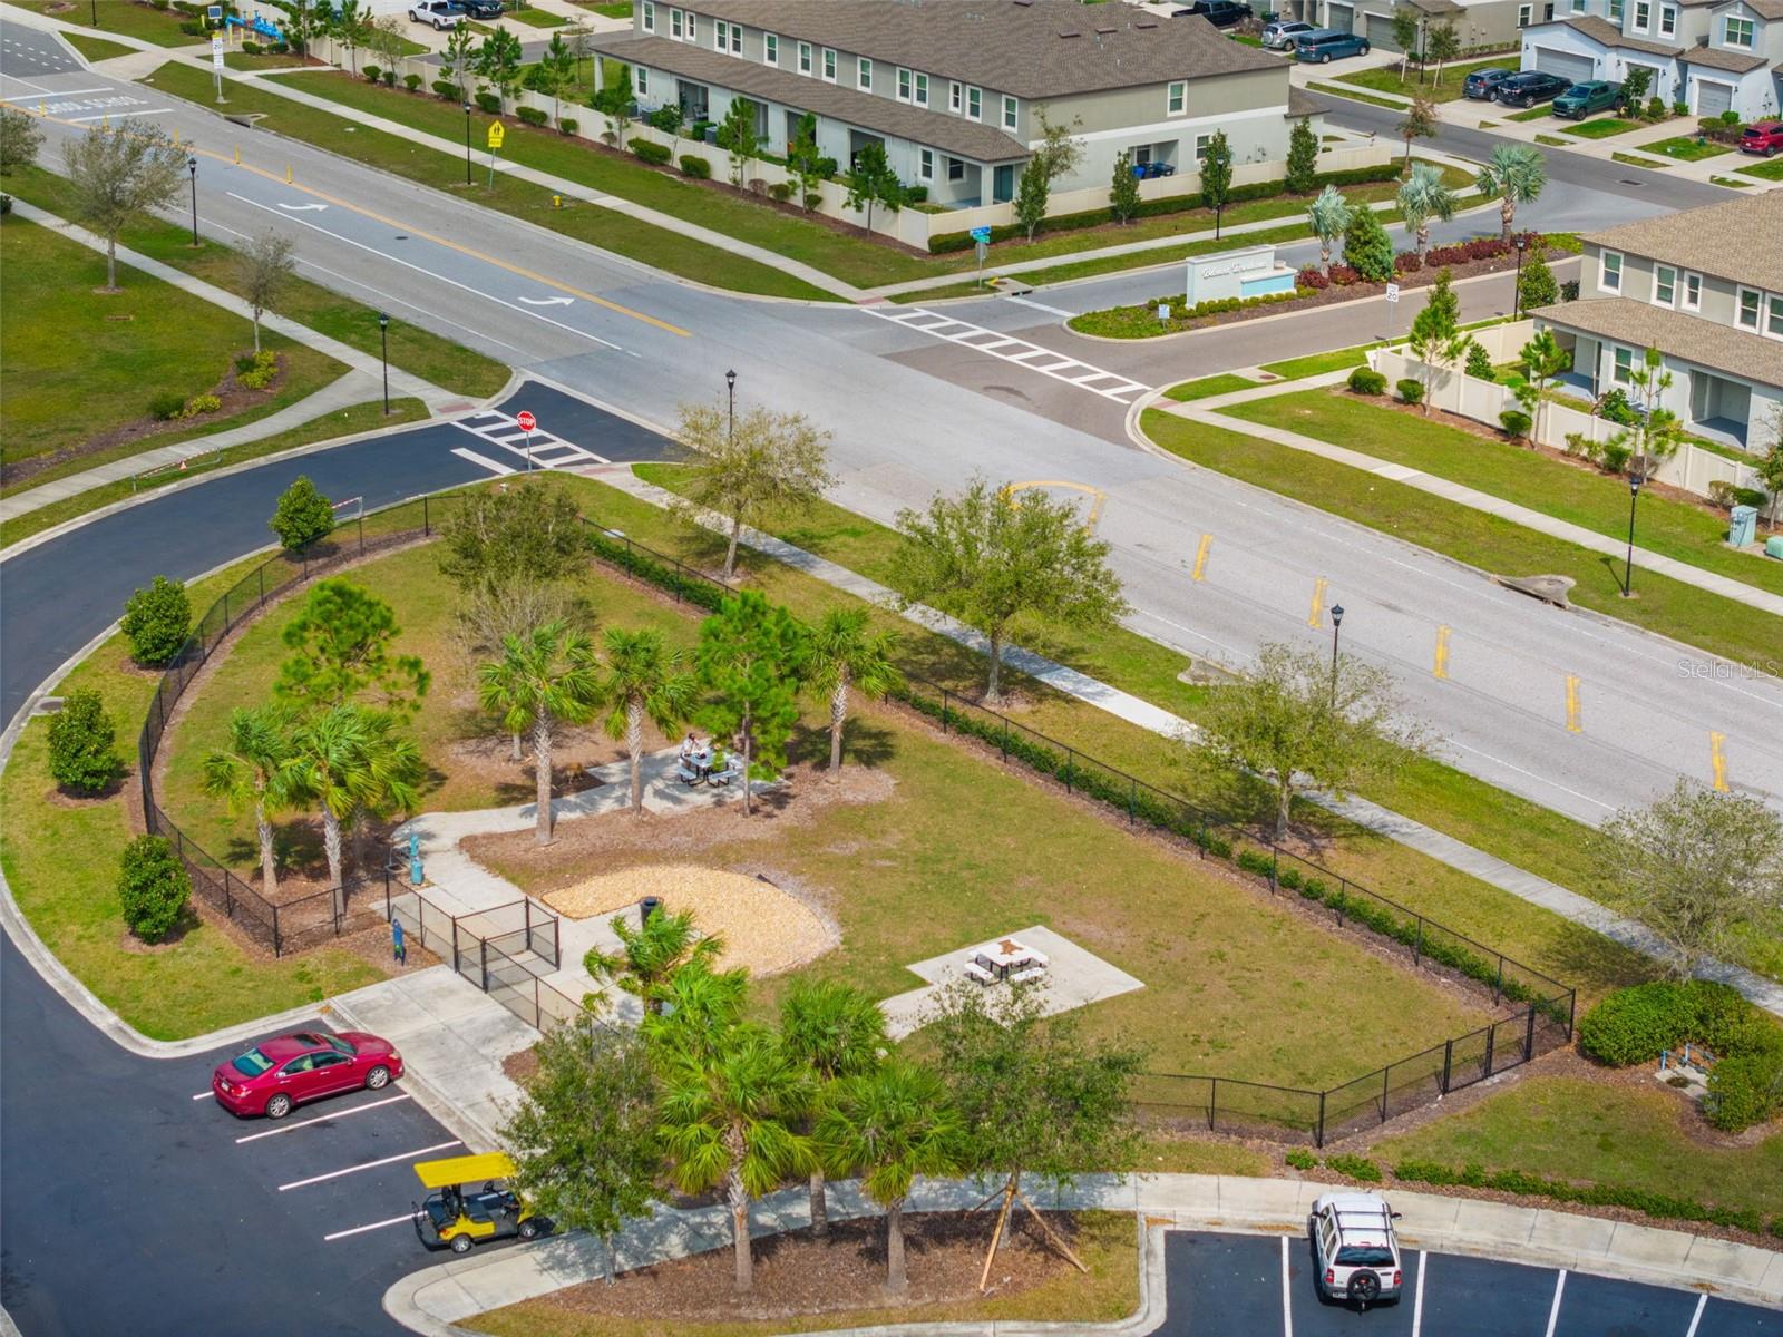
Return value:
M 1193 408 L 1193 405 L 1180 405 L 1180 406 Z M 1218 415 L 1211 417 L 1218 421 Z M 1228 421 L 1232 422 L 1234 430 L 1239 428 L 1236 419 Z M 1250 424 L 1243 424 L 1243 430 L 1250 430 Z M 674 499 L 670 492 L 653 483 L 645 483 L 642 478 L 633 474 L 629 465 L 601 465 L 578 472 L 587 472 L 592 478 L 599 478 L 603 483 L 608 483 L 610 487 L 615 487 L 620 492 L 637 497 L 638 501 L 647 501 L 653 506 L 667 508 Z M 706 513 L 699 519 L 701 524 L 717 533 L 726 533 L 729 529 L 729 524 L 717 515 Z M 804 551 L 802 547 L 793 547 L 792 544 L 776 538 L 774 535 L 745 528 L 742 542 L 756 549 L 758 553 L 774 558 L 776 562 L 783 562 L 788 567 L 802 570 L 804 574 L 813 576 L 815 579 L 820 579 L 826 585 L 847 590 L 849 594 L 854 594 L 856 597 L 865 599 L 867 603 L 877 604 L 881 608 L 897 606 L 897 597 L 884 585 L 870 581 L 859 572 L 849 570 L 847 567 L 840 567 L 834 562 L 817 556 L 815 553 Z M 929 627 L 931 631 L 941 636 L 947 636 L 957 645 L 966 645 L 968 649 L 974 649 L 979 654 L 990 652 L 990 645 L 986 644 L 984 636 L 956 622 L 945 613 L 938 613 L 933 608 L 924 608 L 918 604 L 915 608 L 902 610 L 902 615 L 913 622 L 918 622 L 920 626 Z M 1077 672 L 1075 668 L 1066 668 L 1061 663 L 1054 663 L 1052 660 L 1036 654 L 1032 651 L 1025 651 L 1018 645 L 1009 645 L 1004 649 L 1004 663 L 1007 663 L 1011 668 L 1018 668 L 1029 677 L 1036 677 L 1041 683 L 1047 683 L 1047 686 L 1052 686 L 1066 695 L 1077 697 L 1079 701 L 1086 701 L 1091 706 L 1098 706 L 1100 710 L 1105 710 L 1111 715 L 1127 720 L 1129 724 L 1138 724 L 1139 727 L 1150 729 L 1152 733 L 1163 734 L 1164 738 L 1189 740 L 1195 736 L 1195 726 L 1189 720 L 1182 718 L 1180 715 L 1173 715 L 1171 711 L 1163 710 L 1161 706 L 1154 706 L 1148 701 L 1141 701 L 1139 697 L 1129 692 L 1122 692 L 1116 686 L 1100 683 L 1095 677 L 1089 677 L 1088 674 Z M 1453 836 L 1444 836 L 1441 831 L 1426 827 L 1421 822 L 1414 822 L 1409 816 L 1393 813 L 1385 808 L 1380 808 L 1378 804 L 1371 804 L 1366 799 L 1350 799 L 1339 804 L 1328 795 L 1309 793 L 1307 797 L 1312 802 L 1319 804 L 1321 808 L 1327 808 L 1328 811 L 1339 813 L 1350 818 L 1352 822 L 1368 827 L 1369 831 L 1376 831 L 1384 836 L 1389 836 L 1391 840 L 1400 841 L 1401 845 L 1417 850 L 1419 854 L 1430 856 L 1437 863 L 1444 863 L 1450 868 L 1457 868 L 1471 877 L 1478 877 L 1482 882 L 1489 882 L 1491 886 L 1496 886 L 1501 891 L 1508 891 L 1514 897 L 1542 906 L 1544 909 L 1551 909 L 1557 915 L 1573 920 L 1574 923 L 1582 923 L 1589 929 L 1594 929 L 1596 932 L 1605 934 L 1606 938 L 1614 938 L 1624 947 L 1630 947 L 1637 952 L 1644 952 L 1647 956 L 1664 956 L 1664 952 L 1655 950 L 1658 948 L 1655 938 L 1633 920 L 1623 915 L 1615 915 L 1614 911 L 1605 909 L 1603 906 L 1598 906 L 1596 902 L 1587 900 L 1585 897 L 1580 897 L 1576 891 L 1567 891 L 1564 886 L 1558 886 L 1557 882 L 1549 882 L 1542 877 L 1537 877 L 1535 874 L 1517 868 L 1516 865 L 1500 859 L 1496 854 L 1487 854 L 1485 850 L 1464 845 Z M 1774 984 L 1772 980 L 1767 980 L 1760 975 L 1754 975 L 1749 970 L 1742 970 L 1740 966 L 1728 964 L 1724 961 L 1706 961 L 1697 970 L 1697 973 L 1703 975 L 1705 979 L 1724 980 L 1726 984 L 1731 984 L 1742 995 L 1751 998 L 1756 1005 L 1763 1007 L 1769 1013 L 1774 1013 L 1776 1016 L 1783 1016 L 1783 986 Z

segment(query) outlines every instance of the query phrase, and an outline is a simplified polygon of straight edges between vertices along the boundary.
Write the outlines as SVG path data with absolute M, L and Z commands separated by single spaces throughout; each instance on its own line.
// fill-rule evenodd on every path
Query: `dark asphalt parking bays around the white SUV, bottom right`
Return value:
M 1403 1294 L 1368 1312 L 1323 1303 L 1302 1235 L 1173 1230 L 1159 1337 L 1778 1337 L 1783 1314 L 1696 1291 L 1405 1250 Z

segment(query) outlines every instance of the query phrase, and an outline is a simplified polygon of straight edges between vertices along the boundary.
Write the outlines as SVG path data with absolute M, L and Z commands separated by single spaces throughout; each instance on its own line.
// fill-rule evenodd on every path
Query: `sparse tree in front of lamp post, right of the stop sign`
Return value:
M 724 576 L 736 572 L 736 544 L 745 524 L 768 512 L 804 510 L 836 480 L 829 476 L 829 433 L 804 414 L 776 414 L 760 405 L 736 415 L 720 405 L 681 405 L 676 440 L 694 453 L 676 508 L 697 522 L 717 512 L 731 522 Z

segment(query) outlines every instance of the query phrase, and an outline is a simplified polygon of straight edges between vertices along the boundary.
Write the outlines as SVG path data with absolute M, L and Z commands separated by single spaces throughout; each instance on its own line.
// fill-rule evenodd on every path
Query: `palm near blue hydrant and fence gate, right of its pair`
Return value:
M 335 913 L 342 904 L 341 822 L 357 811 L 412 809 L 421 779 L 421 752 L 396 731 L 396 717 L 344 704 L 314 715 L 291 733 L 291 751 L 278 774 L 278 792 L 292 804 L 314 804 L 323 818 L 328 881 Z

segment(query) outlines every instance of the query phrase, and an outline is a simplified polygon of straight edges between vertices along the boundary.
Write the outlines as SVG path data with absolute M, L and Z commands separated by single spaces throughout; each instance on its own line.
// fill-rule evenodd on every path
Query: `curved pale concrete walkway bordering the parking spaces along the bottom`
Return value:
M 970 1210 L 986 1194 L 974 1180 L 916 1180 L 906 1210 Z M 1150 1332 L 1164 1319 L 1161 1228 L 1234 1230 L 1246 1234 L 1302 1235 L 1312 1200 L 1328 1184 L 1287 1178 L 1237 1178 L 1225 1175 L 1086 1175 L 1070 1189 L 1027 1193 L 1041 1209 L 1095 1209 L 1132 1212 L 1146 1228 L 1141 1250 L 1139 1310 L 1113 1325 L 1059 1323 L 949 1323 L 906 1328 L 925 1333 L 1061 1333 L 1061 1332 Z M 1731 1300 L 1783 1305 L 1783 1253 L 1730 1244 L 1681 1230 L 1569 1216 L 1539 1207 L 1508 1207 L 1473 1198 L 1442 1198 L 1432 1193 L 1393 1193 L 1401 1214 L 1398 1234 L 1407 1248 L 1471 1253 L 1514 1262 L 1558 1266 L 1633 1282 L 1680 1289 L 1712 1289 Z M 877 1216 L 856 1182 L 829 1185 L 829 1218 Z M 752 1237 L 774 1235 L 809 1225 L 809 1193 L 783 1189 L 751 1205 Z M 986 1228 L 990 1214 L 986 1212 Z M 620 1271 L 653 1262 L 727 1248 L 729 1219 L 722 1205 L 674 1212 L 658 1209 L 635 1221 L 617 1239 Z M 453 1325 L 501 1305 L 560 1291 L 606 1275 L 606 1250 L 599 1241 L 574 1234 L 528 1248 L 469 1255 L 410 1273 L 383 1296 L 383 1308 L 412 1332 L 453 1337 Z M 895 1333 L 899 1328 L 852 1330 Z

